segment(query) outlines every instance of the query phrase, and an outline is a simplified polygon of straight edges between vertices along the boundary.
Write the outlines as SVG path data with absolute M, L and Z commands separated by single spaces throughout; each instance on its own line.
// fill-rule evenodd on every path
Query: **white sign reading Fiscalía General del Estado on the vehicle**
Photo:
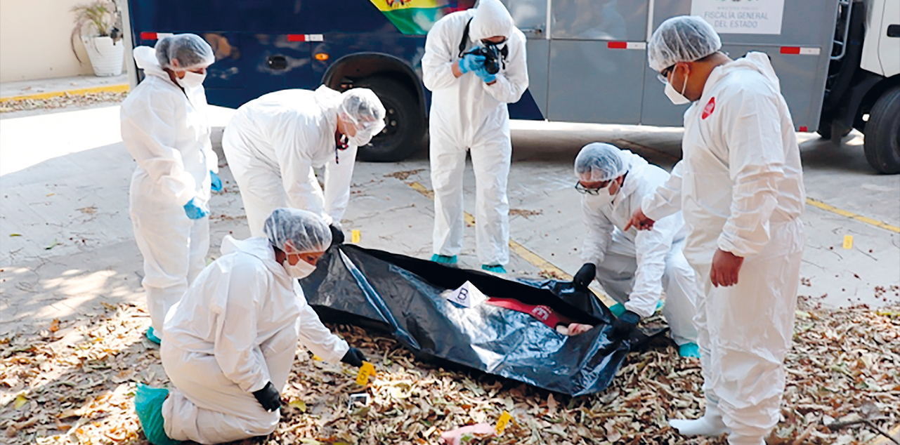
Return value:
M 699 15 L 720 34 L 780 34 L 785 0 L 693 0 Z

